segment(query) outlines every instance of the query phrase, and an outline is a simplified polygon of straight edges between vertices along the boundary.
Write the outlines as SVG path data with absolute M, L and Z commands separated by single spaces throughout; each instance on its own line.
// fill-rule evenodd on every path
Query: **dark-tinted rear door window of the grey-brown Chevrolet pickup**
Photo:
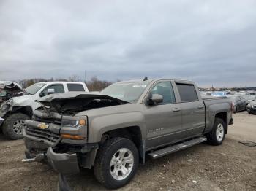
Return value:
M 188 101 L 197 101 L 197 92 L 195 90 L 194 85 L 187 85 L 187 84 L 178 84 L 176 83 L 178 87 L 178 93 L 181 96 L 182 102 L 188 102 Z

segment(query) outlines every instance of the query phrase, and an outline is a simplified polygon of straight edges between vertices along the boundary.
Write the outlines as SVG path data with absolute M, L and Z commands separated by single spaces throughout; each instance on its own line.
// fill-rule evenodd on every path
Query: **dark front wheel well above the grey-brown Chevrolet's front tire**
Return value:
M 106 139 L 111 139 L 114 137 L 123 137 L 126 139 L 131 140 L 135 146 L 138 148 L 138 151 L 140 153 L 140 157 L 142 156 L 142 137 L 141 137 L 141 131 L 140 127 L 138 126 L 131 126 L 127 128 L 118 128 L 115 130 L 110 130 L 108 132 L 105 132 L 102 135 L 102 141 L 104 142 Z

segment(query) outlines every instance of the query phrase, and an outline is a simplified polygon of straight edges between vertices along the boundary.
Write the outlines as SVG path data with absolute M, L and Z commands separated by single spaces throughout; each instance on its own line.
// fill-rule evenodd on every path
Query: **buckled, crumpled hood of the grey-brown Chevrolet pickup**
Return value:
M 48 112 L 77 113 L 129 102 L 100 93 L 69 92 L 47 95 L 37 100 Z

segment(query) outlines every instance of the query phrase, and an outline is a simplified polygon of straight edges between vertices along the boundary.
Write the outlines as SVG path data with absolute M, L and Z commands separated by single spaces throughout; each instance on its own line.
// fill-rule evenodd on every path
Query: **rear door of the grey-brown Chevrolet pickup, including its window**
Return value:
M 205 106 L 198 98 L 193 84 L 176 82 L 181 99 L 181 118 L 184 138 L 199 135 L 205 128 Z

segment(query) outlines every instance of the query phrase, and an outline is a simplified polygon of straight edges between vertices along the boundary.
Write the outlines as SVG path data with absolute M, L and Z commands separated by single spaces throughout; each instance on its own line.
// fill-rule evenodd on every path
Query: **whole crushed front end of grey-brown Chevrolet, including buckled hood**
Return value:
M 26 120 L 23 162 L 47 161 L 61 174 L 91 168 L 99 143 L 88 143 L 89 122 L 81 111 L 127 104 L 108 95 L 70 92 L 47 95 L 38 101 L 42 107 Z

